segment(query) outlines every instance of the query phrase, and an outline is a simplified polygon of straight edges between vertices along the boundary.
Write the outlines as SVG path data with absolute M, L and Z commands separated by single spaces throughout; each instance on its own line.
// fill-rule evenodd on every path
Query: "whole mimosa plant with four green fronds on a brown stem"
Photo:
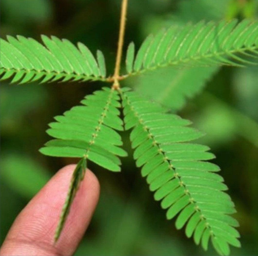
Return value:
M 112 84 L 87 95 L 81 106 L 56 116 L 56 122 L 49 124 L 47 133 L 54 139 L 40 151 L 50 156 L 81 158 L 72 177 L 55 240 L 84 177 L 87 161 L 120 171 L 119 156 L 127 153 L 119 147 L 122 140 L 116 130 L 133 128 L 130 139 L 136 165 L 143 166 L 142 175 L 147 177 L 150 190 L 155 191 L 155 200 L 162 200 L 162 208 L 168 209 L 167 218 L 178 214 L 176 228 L 186 224 L 186 235 L 193 235 L 196 244 L 201 243 L 207 250 L 211 240 L 219 254 L 228 255 L 229 244 L 239 247 L 240 243 L 234 228 L 238 222 L 229 215 L 235 208 L 224 192 L 227 186 L 215 173 L 219 167 L 206 162 L 214 158 L 207 152 L 209 148 L 188 143 L 202 133 L 187 127 L 190 121 L 172 114 L 171 109 L 181 106 L 186 97 L 199 91 L 203 83 L 198 81 L 208 79 L 218 66 L 253 64 L 258 50 L 258 22 L 201 21 L 160 30 L 146 38 L 136 56 L 134 44 L 128 46 L 127 73 L 120 75 L 126 9 L 127 1 L 123 0 L 115 72 L 110 77 L 106 77 L 102 52 L 97 51 L 95 59 L 82 43 L 76 47 L 68 40 L 47 36 L 42 36 L 44 45 L 22 36 L 1 39 L 1 80 L 12 77 L 12 83 L 20 84 L 99 80 Z M 173 92 L 166 90 L 167 79 L 160 75 L 164 72 L 165 76 L 173 77 L 178 69 L 182 75 L 176 79 L 180 80 L 192 76 L 189 70 L 206 66 L 206 76 L 188 84 L 182 80 Z M 144 92 L 150 91 L 153 99 L 149 100 L 127 87 L 120 87 L 120 81 L 130 77 L 144 77 L 149 84 L 157 80 L 162 87 L 150 89 L 145 83 Z M 166 98 L 166 103 L 162 102 L 162 106 L 156 103 L 159 98 Z

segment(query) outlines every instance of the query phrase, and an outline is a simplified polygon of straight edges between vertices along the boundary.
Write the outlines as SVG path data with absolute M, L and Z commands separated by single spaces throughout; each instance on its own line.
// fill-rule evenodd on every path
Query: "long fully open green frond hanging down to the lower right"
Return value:
M 206 162 L 214 158 L 204 145 L 188 143 L 202 134 L 189 122 L 164 113 L 156 103 L 146 102 L 135 92 L 121 90 L 125 127 L 133 127 L 130 139 L 135 148 L 134 158 L 142 167 L 143 177 L 155 200 L 162 200 L 167 219 L 176 219 L 176 228 L 186 225 L 186 236 L 207 250 L 211 238 L 215 250 L 229 254 L 229 244 L 240 246 L 238 226 L 228 214 L 235 212 L 234 204 L 224 192 L 227 186 L 216 174 L 219 167 Z M 135 106 L 137 106 L 135 108 Z M 145 114 L 154 108 L 154 114 Z M 129 125 L 128 125 L 129 123 Z M 223 225 L 221 225 L 223 223 Z

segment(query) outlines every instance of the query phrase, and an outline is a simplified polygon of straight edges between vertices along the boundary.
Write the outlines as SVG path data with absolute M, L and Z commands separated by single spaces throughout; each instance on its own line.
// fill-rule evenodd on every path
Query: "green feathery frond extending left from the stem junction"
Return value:
M 78 48 L 66 39 L 42 35 L 43 44 L 23 36 L 0 38 L 0 80 L 15 75 L 12 83 L 40 83 L 65 81 L 105 81 L 104 55 L 97 51 L 97 59 L 82 43 Z

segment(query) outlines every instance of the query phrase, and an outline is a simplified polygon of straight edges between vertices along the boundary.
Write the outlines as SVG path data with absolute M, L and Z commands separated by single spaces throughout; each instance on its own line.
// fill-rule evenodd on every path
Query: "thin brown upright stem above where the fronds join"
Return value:
M 122 8 L 121 8 L 120 29 L 119 29 L 119 38 L 118 38 L 117 55 L 116 55 L 116 66 L 115 66 L 115 72 L 113 75 L 114 84 L 112 86 L 114 89 L 118 89 L 120 87 L 118 81 L 119 81 L 119 71 L 120 71 L 121 58 L 122 58 L 122 49 L 123 49 L 123 44 L 124 44 L 127 2 L 128 2 L 128 0 L 123 0 Z

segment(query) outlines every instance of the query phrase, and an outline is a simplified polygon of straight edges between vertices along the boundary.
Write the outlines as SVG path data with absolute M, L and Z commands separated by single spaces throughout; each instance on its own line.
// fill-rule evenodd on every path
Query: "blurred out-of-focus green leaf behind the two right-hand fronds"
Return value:
M 182 69 L 164 67 L 132 76 L 126 82 L 147 99 L 175 111 L 183 108 L 187 99 L 200 93 L 218 70 L 217 66 Z

